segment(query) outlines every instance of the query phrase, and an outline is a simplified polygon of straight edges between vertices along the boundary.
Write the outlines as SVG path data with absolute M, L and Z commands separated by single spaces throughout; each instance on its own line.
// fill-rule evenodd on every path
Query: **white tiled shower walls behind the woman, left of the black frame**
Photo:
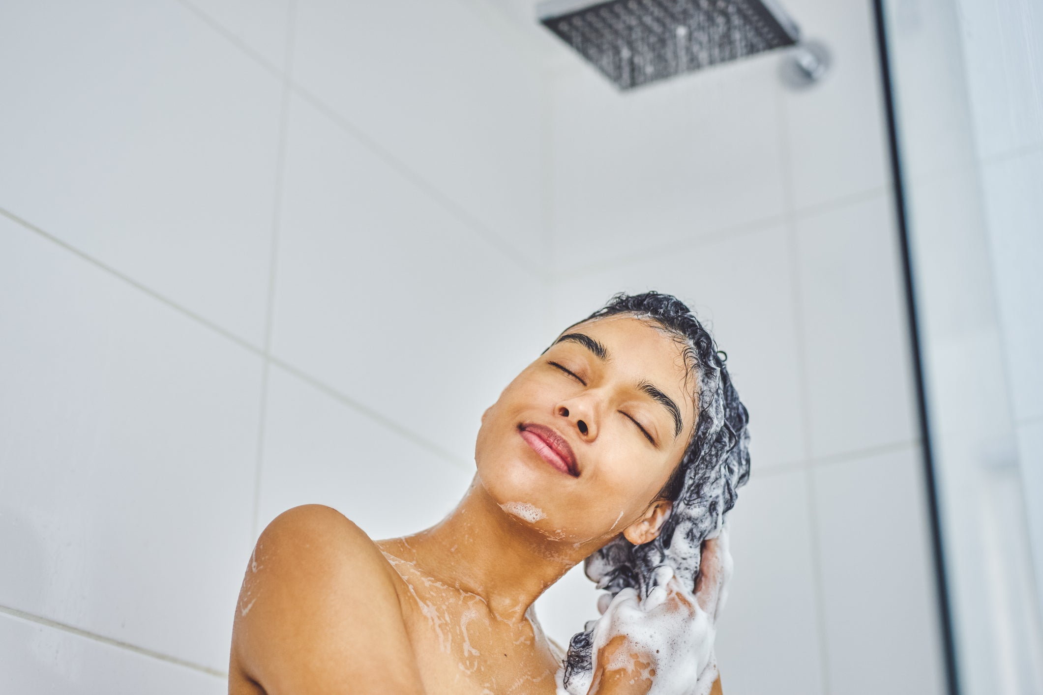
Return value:
M 707 319 L 753 417 L 728 692 L 849 692 L 859 640 L 919 653 L 922 620 L 887 632 L 857 604 L 852 634 L 843 613 L 877 589 L 846 539 L 904 528 L 878 526 L 865 490 L 891 466 L 887 522 L 913 519 L 915 456 L 804 466 L 916 437 L 891 203 L 865 195 L 887 181 L 871 3 L 787 1 L 834 52 L 807 92 L 783 92 L 771 55 L 621 96 L 576 59 L 545 78 L 479 1 L 0 7 L 0 208 L 258 347 L 270 68 L 296 27 L 274 364 L 0 218 L 0 460 L 20 462 L 0 487 L 0 605 L 223 670 L 254 522 L 304 502 L 374 537 L 436 521 L 500 389 L 612 292 L 656 288 Z M 912 560 L 920 593 L 894 605 L 922 618 Z M 539 603 L 549 634 L 567 641 L 596 595 L 571 573 Z M 25 692 L 224 688 L 8 615 L 0 647 L 17 655 L 0 682 Z M 923 664 L 907 681 L 932 692 Z

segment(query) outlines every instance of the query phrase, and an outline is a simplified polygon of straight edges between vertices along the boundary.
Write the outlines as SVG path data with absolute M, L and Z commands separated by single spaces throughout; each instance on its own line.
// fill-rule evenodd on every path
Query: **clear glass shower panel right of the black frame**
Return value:
M 1043 0 L 882 0 L 964 695 L 1043 694 Z

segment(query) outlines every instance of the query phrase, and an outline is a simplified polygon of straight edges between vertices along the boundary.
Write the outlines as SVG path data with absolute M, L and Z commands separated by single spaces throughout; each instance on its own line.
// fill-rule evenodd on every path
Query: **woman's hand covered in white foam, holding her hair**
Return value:
M 709 694 L 718 680 L 714 623 L 731 570 L 723 528 L 703 542 L 694 588 L 682 587 L 671 568 L 660 567 L 648 598 L 625 589 L 602 606 L 589 695 Z

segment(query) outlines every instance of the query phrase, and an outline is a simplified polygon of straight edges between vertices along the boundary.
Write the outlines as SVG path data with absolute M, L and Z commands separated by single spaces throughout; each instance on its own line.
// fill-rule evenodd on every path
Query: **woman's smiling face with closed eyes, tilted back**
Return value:
M 568 328 L 482 416 L 478 477 L 549 538 L 607 542 L 684 453 L 693 381 L 676 340 L 628 315 Z

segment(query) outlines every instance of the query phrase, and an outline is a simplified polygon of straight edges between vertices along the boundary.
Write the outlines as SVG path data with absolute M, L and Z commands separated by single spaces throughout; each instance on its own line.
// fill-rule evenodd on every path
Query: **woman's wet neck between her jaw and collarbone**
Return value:
M 595 542 L 548 538 L 505 512 L 478 476 L 437 525 L 403 539 L 403 557 L 423 573 L 477 595 L 501 620 L 518 622 L 536 598 L 593 552 Z

